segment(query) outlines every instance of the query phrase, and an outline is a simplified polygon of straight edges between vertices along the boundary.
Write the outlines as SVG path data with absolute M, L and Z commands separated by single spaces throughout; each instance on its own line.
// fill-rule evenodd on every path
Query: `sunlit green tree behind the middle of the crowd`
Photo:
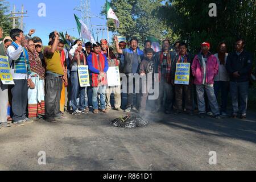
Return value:
M 154 10 L 162 6 L 159 0 L 112 0 L 110 5 L 117 15 L 120 26 L 116 28 L 112 19 L 109 19 L 110 31 L 126 36 L 136 36 L 141 43 L 148 36 L 155 36 L 159 40 L 174 38 L 171 28 L 154 15 Z M 106 14 L 105 7 L 102 8 L 102 15 Z

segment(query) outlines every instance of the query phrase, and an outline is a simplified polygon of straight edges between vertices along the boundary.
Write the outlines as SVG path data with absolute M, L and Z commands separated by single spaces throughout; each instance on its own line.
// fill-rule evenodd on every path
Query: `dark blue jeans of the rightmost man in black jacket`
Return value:
M 233 114 L 246 114 L 248 100 L 249 82 L 230 81 L 230 93 L 232 97 Z M 240 108 L 238 109 L 238 98 L 240 99 Z

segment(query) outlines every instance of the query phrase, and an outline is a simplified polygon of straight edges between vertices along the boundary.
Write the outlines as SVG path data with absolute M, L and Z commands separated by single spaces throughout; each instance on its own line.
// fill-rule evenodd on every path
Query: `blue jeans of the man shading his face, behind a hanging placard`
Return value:
M 79 85 L 79 77 L 77 72 L 71 72 L 71 85 L 72 85 L 72 108 L 73 111 L 80 109 L 84 110 L 88 106 L 85 98 L 87 97 L 86 87 Z M 77 98 L 79 98 L 79 104 L 77 104 Z

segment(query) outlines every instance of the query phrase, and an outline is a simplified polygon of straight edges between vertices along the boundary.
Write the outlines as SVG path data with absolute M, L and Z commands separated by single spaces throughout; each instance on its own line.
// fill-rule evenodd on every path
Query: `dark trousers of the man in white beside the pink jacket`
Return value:
M 214 93 L 218 98 L 218 93 L 221 92 L 221 112 L 226 113 L 229 95 L 229 81 L 214 81 Z

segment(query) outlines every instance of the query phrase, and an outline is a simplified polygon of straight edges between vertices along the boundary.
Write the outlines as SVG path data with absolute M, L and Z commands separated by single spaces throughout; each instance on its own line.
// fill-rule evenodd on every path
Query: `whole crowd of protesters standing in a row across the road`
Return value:
M 74 116 L 108 113 L 110 109 L 130 112 L 138 111 L 166 114 L 187 113 L 199 117 L 205 114 L 216 119 L 226 117 L 228 97 L 232 100 L 232 118 L 246 118 L 249 80 L 253 58 L 245 50 L 245 41 L 237 39 L 234 51 L 227 52 L 225 42 L 218 45 L 217 53 L 212 54 L 210 43 L 201 43 L 200 52 L 192 56 L 184 42 L 176 42 L 172 47 L 170 40 L 163 40 L 162 50 L 154 52 L 151 41 L 144 42 L 144 49 L 138 47 L 137 38 L 119 42 L 114 37 L 115 48 L 108 47 L 108 41 L 83 43 L 73 41 L 69 35 L 60 39 L 58 32 L 49 34 L 48 46 L 36 36 L 35 30 L 24 35 L 15 28 L 10 36 L 0 44 L 0 55 L 7 56 L 14 85 L 5 85 L 0 81 L 0 127 L 10 127 L 10 121 L 16 126 L 44 119 L 57 122 L 66 118 L 64 111 Z M 2 28 L 0 28 L 2 38 Z M 190 63 L 189 83 L 176 84 L 177 63 Z M 80 86 L 77 68 L 88 65 L 90 86 Z M 125 74 L 127 85 L 127 105 L 122 106 L 121 86 L 108 86 L 106 73 L 109 67 L 118 67 Z M 135 93 L 135 75 L 152 77 L 159 84 L 159 97 L 154 106 L 147 108 L 152 85 L 141 84 Z M 157 77 L 156 77 L 157 75 Z M 132 77 L 131 79 L 129 79 Z M 110 102 L 113 93 L 114 105 Z M 218 94 L 220 97 L 220 109 Z M 10 109 L 11 108 L 11 109 Z M 124 109 L 124 110 L 123 110 Z

